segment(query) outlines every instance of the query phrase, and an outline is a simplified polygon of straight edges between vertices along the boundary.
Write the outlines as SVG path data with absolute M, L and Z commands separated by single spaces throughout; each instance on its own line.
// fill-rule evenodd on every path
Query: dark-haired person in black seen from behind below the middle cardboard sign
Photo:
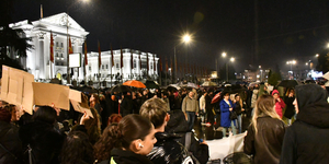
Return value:
M 20 128 L 20 139 L 25 150 L 24 161 L 32 163 L 58 164 L 58 155 L 65 136 L 55 129 L 56 110 L 49 106 L 39 106 L 33 115 L 33 121 Z

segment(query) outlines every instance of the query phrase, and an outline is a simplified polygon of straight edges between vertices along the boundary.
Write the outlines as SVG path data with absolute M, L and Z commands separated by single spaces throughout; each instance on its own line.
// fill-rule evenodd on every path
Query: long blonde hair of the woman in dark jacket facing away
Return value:
M 274 109 L 275 101 L 272 95 L 262 95 L 256 102 L 254 114 L 252 116 L 251 124 L 254 128 L 256 133 L 257 129 L 257 119 L 259 117 L 270 116 L 271 118 L 276 118 L 281 120 L 280 116 Z

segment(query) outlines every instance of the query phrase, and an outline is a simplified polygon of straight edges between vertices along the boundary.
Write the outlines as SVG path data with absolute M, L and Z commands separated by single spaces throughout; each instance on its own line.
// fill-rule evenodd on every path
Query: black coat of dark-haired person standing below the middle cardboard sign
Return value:
M 53 125 L 43 121 L 33 121 L 20 128 L 20 139 L 24 150 L 27 144 L 32 149 L 33 163 L 58 164 L 58 155 L 65 134 L 61 134 Z M 24 154 L 29 161 L 29 153 Z

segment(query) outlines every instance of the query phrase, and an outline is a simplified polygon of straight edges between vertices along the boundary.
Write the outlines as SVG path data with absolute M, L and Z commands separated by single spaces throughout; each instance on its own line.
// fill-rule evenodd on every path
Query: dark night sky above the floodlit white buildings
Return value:
M 251 67 L 287 70 L 287 60 L 314 60 L 325 49 L 329 32 L 328 0 L 258 0 L 259 58 L 254 56 L 254 0 L 15 0 L 13 21 L 39 19 L 66 12 L 86 31 L 88 50 L 132 48 L 155 52 L 178 63 L 188 60 L 215 69 L 226 51 L 235 57 L 236 70 Z M 193 43 L 180 36 L 193 34 Z

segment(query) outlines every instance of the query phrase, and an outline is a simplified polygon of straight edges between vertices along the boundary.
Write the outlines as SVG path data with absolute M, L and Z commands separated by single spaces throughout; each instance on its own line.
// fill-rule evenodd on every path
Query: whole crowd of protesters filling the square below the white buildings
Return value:
M 329 162 L 328 94 L 317 84 L 284 94 L 256 84 L 87 96 L 92 117 L 56 105 L 35 106 L 30 115 L 1 102 L 0 163 L 206 164 L 206 138 L 194 130 L 198 118 L 223 127 L 223 138 L 247 130 L 243 152 L 254 163 Z

